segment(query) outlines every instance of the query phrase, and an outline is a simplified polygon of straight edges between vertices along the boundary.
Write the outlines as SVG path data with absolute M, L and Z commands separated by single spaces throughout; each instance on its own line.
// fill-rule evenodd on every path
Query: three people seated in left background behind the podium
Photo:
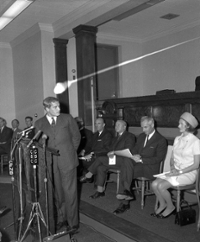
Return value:
M 26 128 L 33 125 L 33 118 L 27 116 L 25 118 Z M 19 128 L 19 120 L 13 119 L 11 122 L 12 128 L 7 127 L 7 122 L 0 117 L 0 155 L 10 155 L 11 148 L 17 138 L 20 137 L 22 130 Z M 32 139 L 34 136 L 34 129 L 30 129 L 25 133 L 24 139 Z

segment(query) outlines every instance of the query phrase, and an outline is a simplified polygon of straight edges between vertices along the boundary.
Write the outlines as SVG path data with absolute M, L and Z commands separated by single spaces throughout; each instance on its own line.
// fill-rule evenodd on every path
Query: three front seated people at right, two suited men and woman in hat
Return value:
M 167 218 L 175 210 L 168 191 L 170 187 L 195 182 L 200 163 L 200 140 L 194 135 L 197 126 L 198 120 L 192 114 L 185 112 L 180 116 L 178 128 L 181 135 L 174 141 L 170 173 L 152 183 L 159 202 L 159 207 L 151 214 L 156 218 Z M 136 141 L 135 136 L 127 131 L 126 122 L 117 120 L 115 131 L 118 135 L 112 138 L 107 156 L 97 156 L 88 167 L 88 172 L 80 178 L 80 182 L 84 183 L 91 182 L 93 175 L 96 176 L 97 191 L 90 198 L 97 199 L 105 196 L 107 171 L 110 168 L 120 169 L 119 192 L 116 196 L 120 204 L 114 214 L 127 211 L 130 201 L 135 200 L 131 189 L 132 180 L 137 177 L 153 180 L 153 175 L 159 173 L 160 163 L 166 156 L 167 140 L 155 129 L 154 119 L 142 117 L 141 128 L 143 132 Z M 125 149 L 130 150 L 130 158 L 122 156 Z

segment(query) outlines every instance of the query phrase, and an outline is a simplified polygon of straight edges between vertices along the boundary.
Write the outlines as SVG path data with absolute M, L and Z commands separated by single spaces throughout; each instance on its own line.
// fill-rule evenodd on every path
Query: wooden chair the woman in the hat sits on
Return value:
M 190 203 L 190 205 L 198 205 L 198 220 L 197 220 L 197 231 L 200 229 L 200 168 L 198 169 L 196 182 L 191 185 L 186 186 L 174 186 L 173 190 L 177 192 L 176 194 L 176 212 L 181 210 L 181 204 L 184 202 L 184 193 L 196 194 L 197 202 Z

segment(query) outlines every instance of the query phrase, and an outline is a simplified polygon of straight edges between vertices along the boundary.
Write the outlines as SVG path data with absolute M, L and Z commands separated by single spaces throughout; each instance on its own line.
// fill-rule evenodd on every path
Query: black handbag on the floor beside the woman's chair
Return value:
M 196 222 L 196 211 L 189 206 L 182 208 L 179 212 L 176 213 L 175 224 L 184 226 L 187 224 L 193 224 Z

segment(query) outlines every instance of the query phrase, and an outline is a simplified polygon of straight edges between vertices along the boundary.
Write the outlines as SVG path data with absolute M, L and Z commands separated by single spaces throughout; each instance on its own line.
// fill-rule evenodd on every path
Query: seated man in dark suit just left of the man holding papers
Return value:
M 87 170 L 96 157 L 106 155 L 112 141 L 112 134 L 106 129 L 103 118 L 97 118 L 95 122 L 96 132 L 87 146 L 82 150 L 82 166 Z

